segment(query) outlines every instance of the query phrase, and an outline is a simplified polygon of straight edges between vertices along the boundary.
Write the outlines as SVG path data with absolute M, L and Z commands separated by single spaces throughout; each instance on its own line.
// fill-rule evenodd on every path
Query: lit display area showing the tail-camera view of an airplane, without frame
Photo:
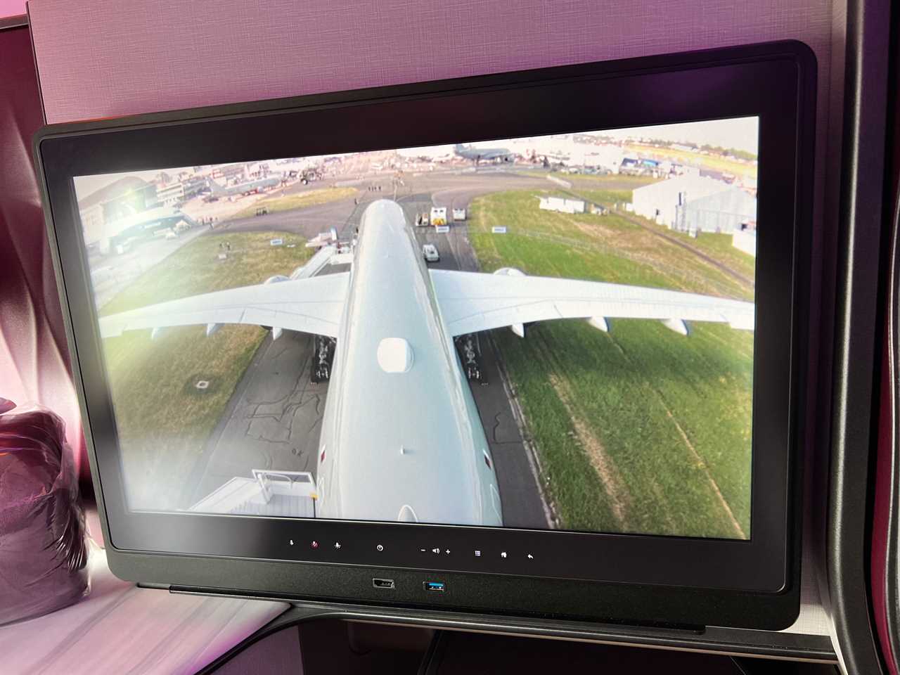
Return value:
M 76 176 L 129 508 L 750 539 L 758 139 Z

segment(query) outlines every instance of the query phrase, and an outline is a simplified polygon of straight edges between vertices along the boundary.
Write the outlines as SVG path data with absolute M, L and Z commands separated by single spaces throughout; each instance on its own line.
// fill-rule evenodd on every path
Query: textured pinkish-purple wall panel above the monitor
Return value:
M 31 0 L 49 122 L 797 38 L 830 0 Z M 827 76 L 821 81 L 828 82 Z

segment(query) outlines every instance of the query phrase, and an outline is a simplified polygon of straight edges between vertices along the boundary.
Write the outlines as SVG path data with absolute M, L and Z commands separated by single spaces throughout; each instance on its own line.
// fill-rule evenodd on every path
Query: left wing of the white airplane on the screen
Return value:
M 337 338 L 348 283 L 344 272 L 192 295 L 101 317 L 100 334 L 194 325 L 206 325 L 211 334 L 221 324 L 242 323 Z

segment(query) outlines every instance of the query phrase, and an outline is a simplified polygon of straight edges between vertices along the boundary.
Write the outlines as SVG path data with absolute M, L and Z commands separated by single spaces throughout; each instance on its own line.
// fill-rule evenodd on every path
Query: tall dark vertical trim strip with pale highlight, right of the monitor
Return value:
M 869 607 L 874 377 L 881 362 L 879 272 L 884 228 L 887 0 L 851 0 L 847 14 L 843 157 L 826 532 L 834 630 L 851 673 L 882 664 Z M 883 293 L 884 289 L 881 289 Z

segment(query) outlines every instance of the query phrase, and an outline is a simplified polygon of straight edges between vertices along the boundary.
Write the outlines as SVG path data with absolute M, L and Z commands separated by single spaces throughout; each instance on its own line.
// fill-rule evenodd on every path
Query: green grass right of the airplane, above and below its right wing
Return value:
M 484 271 L 749 299 L 733 277 L 621 215 L 539 211 L 536 194 L 472 203 L 469 236 Z M 494 225 L 509 233 L 491 234 Z M 562 527 L 750 536 L 752 334 L 610 325 L 606 334 L 547 321 L 524 340 L 494 331 Z

